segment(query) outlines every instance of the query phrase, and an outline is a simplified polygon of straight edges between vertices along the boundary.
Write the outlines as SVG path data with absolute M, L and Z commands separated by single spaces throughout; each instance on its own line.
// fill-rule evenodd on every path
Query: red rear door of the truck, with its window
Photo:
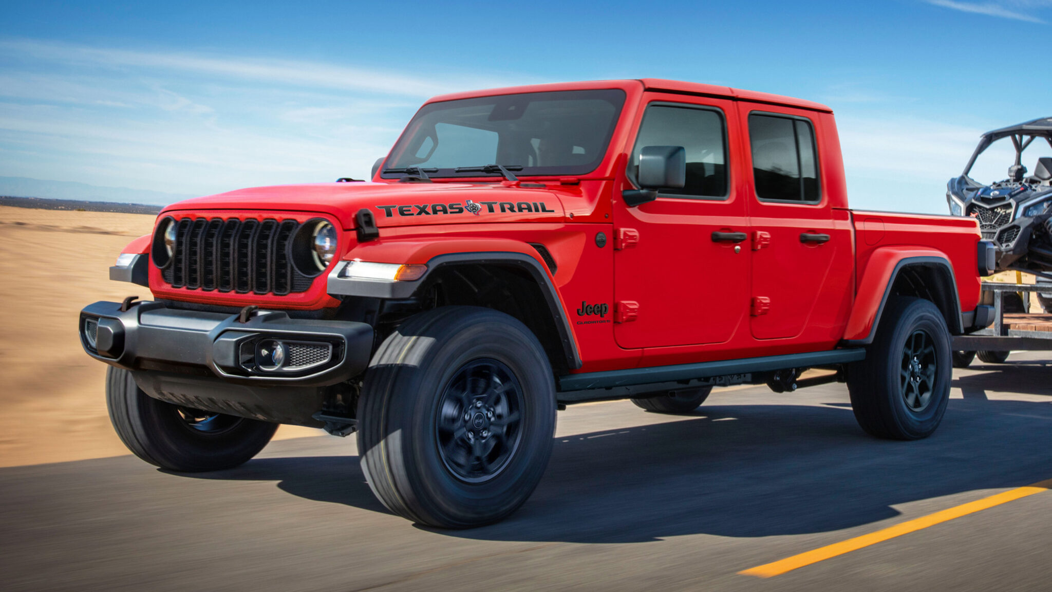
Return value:
M 752 336 L 835 339 L 841 307 L 822 294 L 851 290 L 851 231 L 823 193 L 815 122 L 803 110 L 740 106 L 752 167 Z

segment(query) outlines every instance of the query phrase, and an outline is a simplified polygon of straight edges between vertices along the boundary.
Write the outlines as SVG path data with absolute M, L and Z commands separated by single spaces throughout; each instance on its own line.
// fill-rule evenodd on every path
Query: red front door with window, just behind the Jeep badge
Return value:
M 653 94 L 636 120 L 629 180 L 644 146 L 672 145 L 686 149 L 687 182 L 635 208 L 613 200 L 618 344 L 727 341 L 746 324 L 749 295 L 748 196 L 729 161 L 741 145 L 734 105 Z

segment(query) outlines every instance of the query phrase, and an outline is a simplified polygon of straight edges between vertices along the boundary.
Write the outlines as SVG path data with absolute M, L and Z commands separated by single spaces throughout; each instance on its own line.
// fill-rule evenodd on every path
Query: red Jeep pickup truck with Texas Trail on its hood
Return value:
M 989 324 L 975 220 L 848 209 L 831 111 L 669 80 L 429 100 L 370 181 L 169 205 L 80 315 L 113 423 L 173 471 L 245 462 L 279 423 L 358 432 L 392 512 L 499 520 L 555 411 L 697 408 L 835 370 L 862 428 L 931 434 L 951 335 Z M 813 381 L 813 380 L 812 380 Z

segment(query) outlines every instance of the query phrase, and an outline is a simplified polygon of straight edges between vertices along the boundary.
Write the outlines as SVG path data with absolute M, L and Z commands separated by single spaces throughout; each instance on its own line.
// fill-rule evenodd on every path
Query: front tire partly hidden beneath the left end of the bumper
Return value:
M 132 373 L 106 371 L 109 420 L 124 446 L 162 469 L 195 473 L 243 465 L 270 441 L 277 423 L 199 411 L 155 399 Z

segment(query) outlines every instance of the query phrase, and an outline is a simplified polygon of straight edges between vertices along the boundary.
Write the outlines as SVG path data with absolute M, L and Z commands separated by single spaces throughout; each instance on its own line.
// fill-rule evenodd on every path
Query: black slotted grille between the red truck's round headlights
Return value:
M 304 292 L 312 276 L 299 272 L 289 246 L 300 222 L 180 218 L 171 264 L 162 271 L 173 288 L 247 294 Z

